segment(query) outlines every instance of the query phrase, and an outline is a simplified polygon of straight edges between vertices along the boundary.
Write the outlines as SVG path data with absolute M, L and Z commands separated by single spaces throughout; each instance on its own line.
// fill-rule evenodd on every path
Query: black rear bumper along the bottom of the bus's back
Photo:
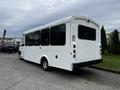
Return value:
M 92 61 L 82 62 L 82 63 L 74 63 L 73 70 L 79 69 L 80 67 L 90 66 L 90 65 L 99 64 L 99 63 L 102 63 L 102 59 L 92 60 Z

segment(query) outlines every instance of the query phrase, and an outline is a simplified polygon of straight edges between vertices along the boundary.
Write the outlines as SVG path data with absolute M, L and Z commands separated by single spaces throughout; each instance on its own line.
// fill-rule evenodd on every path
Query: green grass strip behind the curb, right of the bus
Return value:
M 120 72 L 120 55 L 103 55 L 103 62 L 96 67 Z

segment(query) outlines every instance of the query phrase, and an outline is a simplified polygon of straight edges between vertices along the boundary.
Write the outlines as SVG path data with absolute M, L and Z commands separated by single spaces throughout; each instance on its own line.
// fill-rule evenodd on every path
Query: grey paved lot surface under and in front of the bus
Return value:
M 120 90 L 120 75 L 87 67 L 46 72 L 17 54 L 0 53 L 0 90 Z

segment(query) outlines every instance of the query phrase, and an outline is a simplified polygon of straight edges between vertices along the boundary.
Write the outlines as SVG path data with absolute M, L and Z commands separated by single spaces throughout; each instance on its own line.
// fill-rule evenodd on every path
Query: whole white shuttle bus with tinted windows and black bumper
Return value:
M 102 62 L 99 25 L 81 16 L 71 16 L 25 31 L 20 58 L 41 64 L 44 70 L 56 67 L 76 70 Z

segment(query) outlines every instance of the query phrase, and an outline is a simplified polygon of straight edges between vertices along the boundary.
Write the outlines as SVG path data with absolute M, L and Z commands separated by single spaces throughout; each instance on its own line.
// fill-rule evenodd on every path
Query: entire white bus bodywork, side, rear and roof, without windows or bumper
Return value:
M 49 66 L 72 71 L 74 63 L 88 62 L 101 59 L 100 55 L 100 30 L 94 22 L 87 22 L 88 18 L 69 17 L 55 23 L 51 23 L 35 30 L 24 32 L 24 34 L 36 31 L 41 28 L 48 28 L 54 25 L 66 24 L 66 44 L 64 46 L 22 46 L 20 47 L 21 57 L 25 60 L 40 64 L 41 58 L 46 57 Z M 78 25 L 84 25 L 96 29 L 96 41 L 78 39 Z M 75 35 L 75 41 L 72 36 Z M 76 58 L 73 58 L 73 45 L 76 45 Z M 58 58 L 56 58 L 56 56 Z

